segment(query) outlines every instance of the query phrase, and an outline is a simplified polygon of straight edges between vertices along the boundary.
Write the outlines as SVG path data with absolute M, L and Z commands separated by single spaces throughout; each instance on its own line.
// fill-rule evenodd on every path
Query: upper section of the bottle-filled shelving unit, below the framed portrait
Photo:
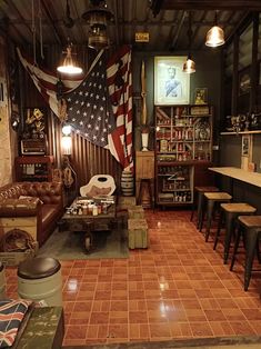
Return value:
M 155 107 L 157 154 L 173 154 L 173 161 L 211 161 L 211 117 L 209 106 Z

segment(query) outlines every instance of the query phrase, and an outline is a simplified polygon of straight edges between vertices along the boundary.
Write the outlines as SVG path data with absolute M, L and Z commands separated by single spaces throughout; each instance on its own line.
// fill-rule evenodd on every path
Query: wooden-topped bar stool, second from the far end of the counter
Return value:
M 205 192 L 204 198 L 207 199 L 207 228 L 205 228 L 205 242 L 209 240 L 210 235 L 210 228 L 211 228 L 211 221 L 212 216 L 214 212 L 214 206 L 218 203 L 229 202 L 232 197 L 228 192 Z M 202 217 L 203 222 L 203 217 Z M 202 223 L 201 223 L 202 226 Z

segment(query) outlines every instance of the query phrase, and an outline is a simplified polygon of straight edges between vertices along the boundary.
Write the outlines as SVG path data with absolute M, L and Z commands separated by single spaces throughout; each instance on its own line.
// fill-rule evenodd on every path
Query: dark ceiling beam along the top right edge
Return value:
M 261 10 L 260 0 L 155 0 L 153 2 L 158 2 L 158 7 L 164 10 Z

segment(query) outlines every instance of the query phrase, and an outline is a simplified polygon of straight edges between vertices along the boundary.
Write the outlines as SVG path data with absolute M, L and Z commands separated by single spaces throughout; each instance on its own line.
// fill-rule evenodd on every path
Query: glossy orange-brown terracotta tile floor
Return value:
M 148 250 L 62 262 L 63 345 L 261 335 L 261 276 L 243 291 L 243 255 L 229 271 L 222 243 L 213 251 L 189 211 L 147 211 L 147 219 Z M 7 276 L 17 297 L 16 269 Z

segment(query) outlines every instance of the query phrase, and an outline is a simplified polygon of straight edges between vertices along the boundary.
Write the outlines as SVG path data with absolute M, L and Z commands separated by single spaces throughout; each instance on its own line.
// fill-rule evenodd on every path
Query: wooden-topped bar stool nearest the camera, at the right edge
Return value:
M 238 252 L 240 238 L 242 236 L 244 238 L 245 245 L 244 291 L 248 291 L 252 273 L 254 249 L 257 249 L 258 259 L 261 263 L 261 256 L 259 251 L 259 240 L 261 239 L 261 216 L 239 216 L 238 221 L 240 227 L 235 237 L 230 270 L 233 270 L 235 255 Z

